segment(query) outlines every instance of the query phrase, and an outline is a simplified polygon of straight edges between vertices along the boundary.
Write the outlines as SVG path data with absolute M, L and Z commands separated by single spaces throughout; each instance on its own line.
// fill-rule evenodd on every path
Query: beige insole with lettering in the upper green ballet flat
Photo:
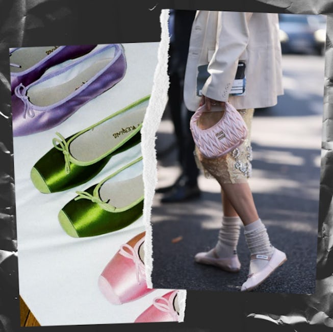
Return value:
M 69 144 L 70 154 L 83 162 L 105 155 L 142 123 L 147 106 L 148 100 L 76 137 Z

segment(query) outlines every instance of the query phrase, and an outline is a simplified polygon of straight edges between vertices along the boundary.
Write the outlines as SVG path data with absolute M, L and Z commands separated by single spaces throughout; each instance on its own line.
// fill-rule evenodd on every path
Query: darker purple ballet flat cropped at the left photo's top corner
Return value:
M 9 49 L 12 94 L 22 83 L 24 86 L 38 80 L 50 67 L 89 53 L 96 45 L 15 47 Z

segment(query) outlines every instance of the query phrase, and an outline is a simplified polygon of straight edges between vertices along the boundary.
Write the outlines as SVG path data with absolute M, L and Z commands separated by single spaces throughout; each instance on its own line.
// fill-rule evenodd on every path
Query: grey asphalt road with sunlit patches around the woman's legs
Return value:
M 275 107 L 255 111 L 249 183 L 271 242 L 287 253 L 288 261 L 254 292 L 309 294 L 316 277 L 324 57 L 284 55 L 283 71 L 284 96 Z M 173 183 L 180 172 L 168 111 L 156 149 L 159 188 Z M 200 175 L 199 187 L 201 197 L 189 202 L 162 205 L 162 194 L 155 194 L 153 287 L 239 291 L 249 264 L 243 232 L 239 273 L 193 260 L 196 252 L 215 245 L 222 215 L 217 183 Z

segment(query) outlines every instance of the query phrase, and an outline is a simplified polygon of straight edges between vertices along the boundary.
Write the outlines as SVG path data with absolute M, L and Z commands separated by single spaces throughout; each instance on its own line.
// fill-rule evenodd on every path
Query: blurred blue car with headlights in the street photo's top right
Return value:
M 283 53 L 325 53 L 326 16 L 279 14 Z

